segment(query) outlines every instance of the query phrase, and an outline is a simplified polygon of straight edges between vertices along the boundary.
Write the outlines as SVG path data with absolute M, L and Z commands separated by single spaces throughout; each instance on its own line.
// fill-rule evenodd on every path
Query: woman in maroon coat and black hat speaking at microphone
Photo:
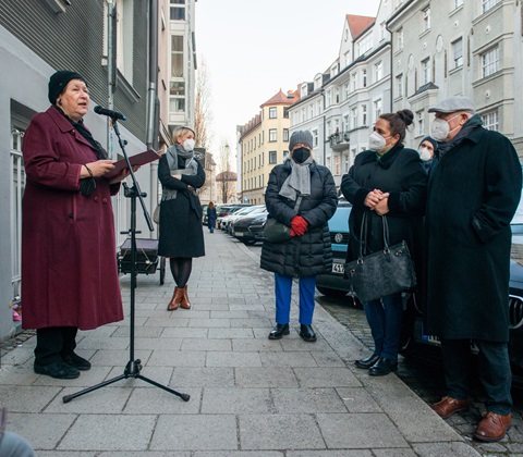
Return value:
M 74 353 L 78 329 L 123 319 L 111 196 L 129 171 L 105 177 L 114 162 L 84 124 L 81 74 L 56 72 L 48 98 L 22 146 L 22 325 L 36 329 L 35 372 L 74 379 L 90 368 Z

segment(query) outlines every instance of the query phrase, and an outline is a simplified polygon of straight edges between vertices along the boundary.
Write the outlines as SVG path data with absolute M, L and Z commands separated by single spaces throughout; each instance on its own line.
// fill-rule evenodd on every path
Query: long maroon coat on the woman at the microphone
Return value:
M 120 185 L 100 177 L 90 196 L 78 193 L 82 164 L 96 151 L 53 107 L 33 118 L 22 151 L 24 329 L 122 320 L 111 205 Z

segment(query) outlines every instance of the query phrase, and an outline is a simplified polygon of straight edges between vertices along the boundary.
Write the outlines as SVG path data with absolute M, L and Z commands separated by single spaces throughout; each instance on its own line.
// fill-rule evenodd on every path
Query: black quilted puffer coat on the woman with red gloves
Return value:
M 312 163 L 311 195 L 303 196 L 297 212 L 295 201 L 279 195 L 281 186 L 291 174 L 289 161 L 276 165 L 269 174 L 265 205 L 269 218 L 291 226 L 300 214 L 308 223 L 303 236 L 293 236 L 287 243 L 264 240 L 260 265 L 264 270 L 291 277 L 316 276 L 332 269 L 332 250 L 327 224 L 338 206 L 336 185 L 330 171 Z

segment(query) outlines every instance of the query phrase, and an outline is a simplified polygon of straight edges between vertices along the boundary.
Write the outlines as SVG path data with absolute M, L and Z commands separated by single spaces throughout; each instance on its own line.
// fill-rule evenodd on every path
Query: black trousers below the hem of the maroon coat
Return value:
M 49 365 L 56 361 L 62 361 L 62 355 L 74 351 L 77 333 L 77 326 L 37 329 L 35 363 Z

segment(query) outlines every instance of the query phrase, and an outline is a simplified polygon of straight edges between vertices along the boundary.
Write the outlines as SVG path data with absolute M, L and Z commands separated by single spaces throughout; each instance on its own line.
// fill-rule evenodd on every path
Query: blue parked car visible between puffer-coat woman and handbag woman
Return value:
M 346 245 L 349 243 L 349 215 L 352 205 L 340 197 L 335 215 L 329 220 L 330 243 L 332 246 L 332 270 L 316 276 L 316 288 L 324 295 L 343 297 L 349 292 L 349 283 L 343 279 Z

